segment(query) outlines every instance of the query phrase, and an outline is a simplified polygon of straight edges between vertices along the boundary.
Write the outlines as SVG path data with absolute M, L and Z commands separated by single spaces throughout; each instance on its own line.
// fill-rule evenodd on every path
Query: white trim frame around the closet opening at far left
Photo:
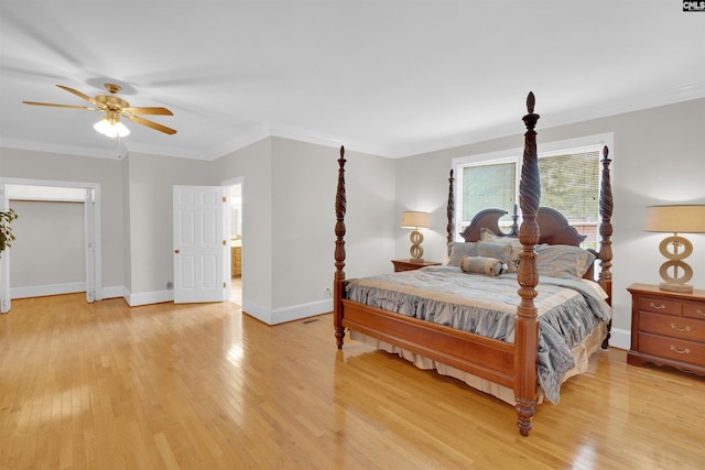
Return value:
M 86 302 L 89 304 L 102 298 L 102 265 L 100 245 L 100 184 L 80 182 L 57 182 L 51 179 L 6 178 L 0 177 L 0 209 L 10 207 L 10 197 L 7 194 L 7 185 L 18 186 L 46 186 L 55 188 L 78 188 L 86 190 L 84 200 L 84 232 L 85 232 L 85 262 L 86 262 Z M 61 199 L 57 199 L 61 200 Z M 10 295 L 10 263 L 11 250 L 6 251 L 0 258 L 0 313 L 10 311 L 12 306 Z

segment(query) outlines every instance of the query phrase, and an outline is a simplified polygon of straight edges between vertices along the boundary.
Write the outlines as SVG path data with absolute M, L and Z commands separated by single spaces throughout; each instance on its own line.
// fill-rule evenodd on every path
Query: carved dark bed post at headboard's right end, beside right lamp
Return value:
M 612 273 L 609 269 L 612 266 L 612 185 L 609 176 L 609 165 L 611 160 L 607 156 L 609 150 L 607 145 L 603 149 L 603 182 L 599 190 L 599 217 L 601 222 L 599 225 L 599 285 L 603 286 L 607 293 L 607 303 L 612 305 Z M 607 337 L 603 341 L 603 349 L 607 349 L 609 346 L 610 330 L 612 327 L 611 320 L 607 325 Z

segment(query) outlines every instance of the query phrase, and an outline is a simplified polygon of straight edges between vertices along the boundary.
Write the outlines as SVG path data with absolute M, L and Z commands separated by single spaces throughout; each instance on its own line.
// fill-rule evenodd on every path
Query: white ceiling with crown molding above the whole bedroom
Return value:
M 705 97 L 679 0 L 0 0 L 0 146 L 119 153 L 88 105 L 123 87 L 128 150 L 212 160 L 268 135 L 405 156 Z M 658 128 L 658 122 L 654 123 Z

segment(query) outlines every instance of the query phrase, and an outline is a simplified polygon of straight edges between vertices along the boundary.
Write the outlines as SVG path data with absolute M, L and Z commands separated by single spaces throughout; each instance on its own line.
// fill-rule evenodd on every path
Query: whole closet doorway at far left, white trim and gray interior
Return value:
M 0 208 L 19 216 L 18 240 L 0 258 L 3 314 L 19 297 L 85 292 L 88 303 L 101 298 L 99 194 L 90 183 L 0 178 Z

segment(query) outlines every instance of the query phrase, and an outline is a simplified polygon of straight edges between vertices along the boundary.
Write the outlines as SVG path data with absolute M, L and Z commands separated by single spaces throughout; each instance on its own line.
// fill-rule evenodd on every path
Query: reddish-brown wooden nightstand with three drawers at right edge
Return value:
M 661 291 L 632 284 L 631 349 L 627 362 L 671 365 L 705 375 L 705 291 Z

